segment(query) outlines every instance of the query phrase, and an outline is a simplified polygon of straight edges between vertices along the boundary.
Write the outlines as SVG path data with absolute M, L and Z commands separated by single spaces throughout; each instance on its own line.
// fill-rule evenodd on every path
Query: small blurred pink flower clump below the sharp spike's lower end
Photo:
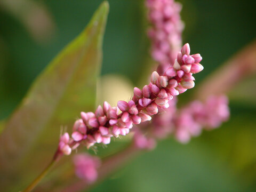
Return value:
M 101 164 L 100 158 L 89 154 L 78 154 L 73 158 L 75 172 L 78 178 L 87 183 L 93 183 L 98 178 L 98 167 Z

